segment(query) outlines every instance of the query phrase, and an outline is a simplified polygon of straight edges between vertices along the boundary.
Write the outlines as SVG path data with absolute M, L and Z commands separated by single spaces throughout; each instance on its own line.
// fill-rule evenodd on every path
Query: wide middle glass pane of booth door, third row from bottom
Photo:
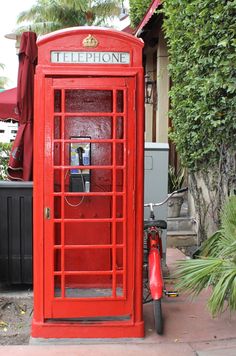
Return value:
M 110 245 L 111 242 L 109 222 L 65 222 L 65 245 Z

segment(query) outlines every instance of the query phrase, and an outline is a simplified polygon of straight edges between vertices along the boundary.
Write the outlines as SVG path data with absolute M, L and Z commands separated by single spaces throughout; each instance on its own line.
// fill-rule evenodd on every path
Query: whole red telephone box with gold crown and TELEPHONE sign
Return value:
M 32 336 L 143 337 L 143 43 L 38 41 Z

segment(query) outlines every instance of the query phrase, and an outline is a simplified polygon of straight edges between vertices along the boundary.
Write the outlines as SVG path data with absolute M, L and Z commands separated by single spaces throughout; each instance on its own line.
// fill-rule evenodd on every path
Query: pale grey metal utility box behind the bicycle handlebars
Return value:
M 145 142 L 144 157 L 144 202 L 161 202 L 168 194 L 168 143 Z M 155 208 L 155 216 L 167 221 L 167 204 Z M 144 217 L 148 219 L 149 209 L 144 210 Z M 162 235 L 162 248 L 166 263 L 166 230 Z

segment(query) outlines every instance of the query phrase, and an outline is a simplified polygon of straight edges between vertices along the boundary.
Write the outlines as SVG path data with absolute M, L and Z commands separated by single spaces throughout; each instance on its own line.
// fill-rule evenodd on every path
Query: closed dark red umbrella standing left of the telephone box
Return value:
M 8 165 L 8 175 L 11 180 L 32 180 L 33 178 L 34 73 L 37 54 L 36 34 L 23 32 L 17 80 L 17 108 L 20 126 Z

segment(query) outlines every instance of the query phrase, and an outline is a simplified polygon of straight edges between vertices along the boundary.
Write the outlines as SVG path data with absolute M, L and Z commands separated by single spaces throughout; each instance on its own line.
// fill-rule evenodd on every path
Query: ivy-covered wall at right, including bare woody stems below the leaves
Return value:
M 130 0 L 133 27 L 150 3 Z M 163 0 L 157 12 L 170 59 L 170 138 L 190 173 L 203 240 L 236 194 L 236 0 Z

